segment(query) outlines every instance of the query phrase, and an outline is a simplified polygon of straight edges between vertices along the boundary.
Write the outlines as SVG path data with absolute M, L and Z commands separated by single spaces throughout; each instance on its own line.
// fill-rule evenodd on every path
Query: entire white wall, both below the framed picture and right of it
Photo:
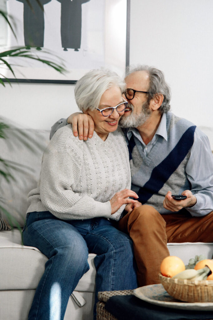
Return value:
M 199 126 L 213 119 L 212 12 L 212 0 L 131 0 L 130 64 L 164 71 L 172 111 Z M 78 111 L 71 84 L 6 84 L 0 97 L 0 114 L 27 127 L 49 129 Z

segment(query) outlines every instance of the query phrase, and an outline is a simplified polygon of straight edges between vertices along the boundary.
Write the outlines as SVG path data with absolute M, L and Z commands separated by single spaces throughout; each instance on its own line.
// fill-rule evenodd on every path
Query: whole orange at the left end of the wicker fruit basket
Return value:
M 183 261 L 176 256 L 169 256 L 164 258 L 161 262 L 161 274 L 165 277 L 173 277 L 177 275 L 179 272 L 184 271 L 185 265 Z

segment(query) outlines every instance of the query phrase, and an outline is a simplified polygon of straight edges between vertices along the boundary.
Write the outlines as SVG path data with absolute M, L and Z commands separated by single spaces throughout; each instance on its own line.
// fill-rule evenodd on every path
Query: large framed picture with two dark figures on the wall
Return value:
M 87 71 L 110 68 L 120 76 L 129 65 L 130 0 L 7 0 L 16 38 L 7 30 L 6 47 L 26 46 L 39 58 L 64 64 L 62 75 L 32 59 L 8 58 L 19 82 L 75 83 Z M 4 74 L 17 81 L 9 70 Z

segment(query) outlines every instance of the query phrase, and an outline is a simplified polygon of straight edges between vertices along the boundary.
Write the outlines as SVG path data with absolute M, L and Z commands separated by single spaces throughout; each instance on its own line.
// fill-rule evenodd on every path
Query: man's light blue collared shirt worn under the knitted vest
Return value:
M 147 145 L 136 128 L 128 129 L 127 139 L 130 140 L 133 134 L 141 142 L 144 154 L 148 156 L 154 145 L 158 143 L 159 137 L 167 141 L 166 124 L 167 118 L 164 113 L 154 137 Z M 191 208 L 186 208 L 187 211 L 192 216 L 203 216 L 213 211 L 213 156 L 208 137 L 198 128 L 194 133 L 194 143 L 185 172 L 191 184 L 191 192 L 197 198 L 197 203 Z M 143 172 L 138 172 L 138 174 L 143 176 Z M 181 194 L 184 190 L 186 190 L 185 186 L 179 190 L 179 193 Z

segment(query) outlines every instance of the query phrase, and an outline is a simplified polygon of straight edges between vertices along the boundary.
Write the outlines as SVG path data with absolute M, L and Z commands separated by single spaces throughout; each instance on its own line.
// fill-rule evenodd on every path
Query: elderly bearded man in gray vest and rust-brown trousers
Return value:
M 132 190 L 141 204 L 128 204 L 118 228 L 133 239 L 139 286 L 159 283 L 167 242 L 213 241 L 213 157 L 207 136 L 170 110 L 170 89 L 162 71 L 129 68 L 128 106 L 119 125 L 129 147 Z M 72 123 L 74 135 L 87 140 L 94 124 L 84 114 L 59 120 Z M 78 129 L 78 130 L 77 130 Z M 173 194 L 186 196 L 176 200 Z

